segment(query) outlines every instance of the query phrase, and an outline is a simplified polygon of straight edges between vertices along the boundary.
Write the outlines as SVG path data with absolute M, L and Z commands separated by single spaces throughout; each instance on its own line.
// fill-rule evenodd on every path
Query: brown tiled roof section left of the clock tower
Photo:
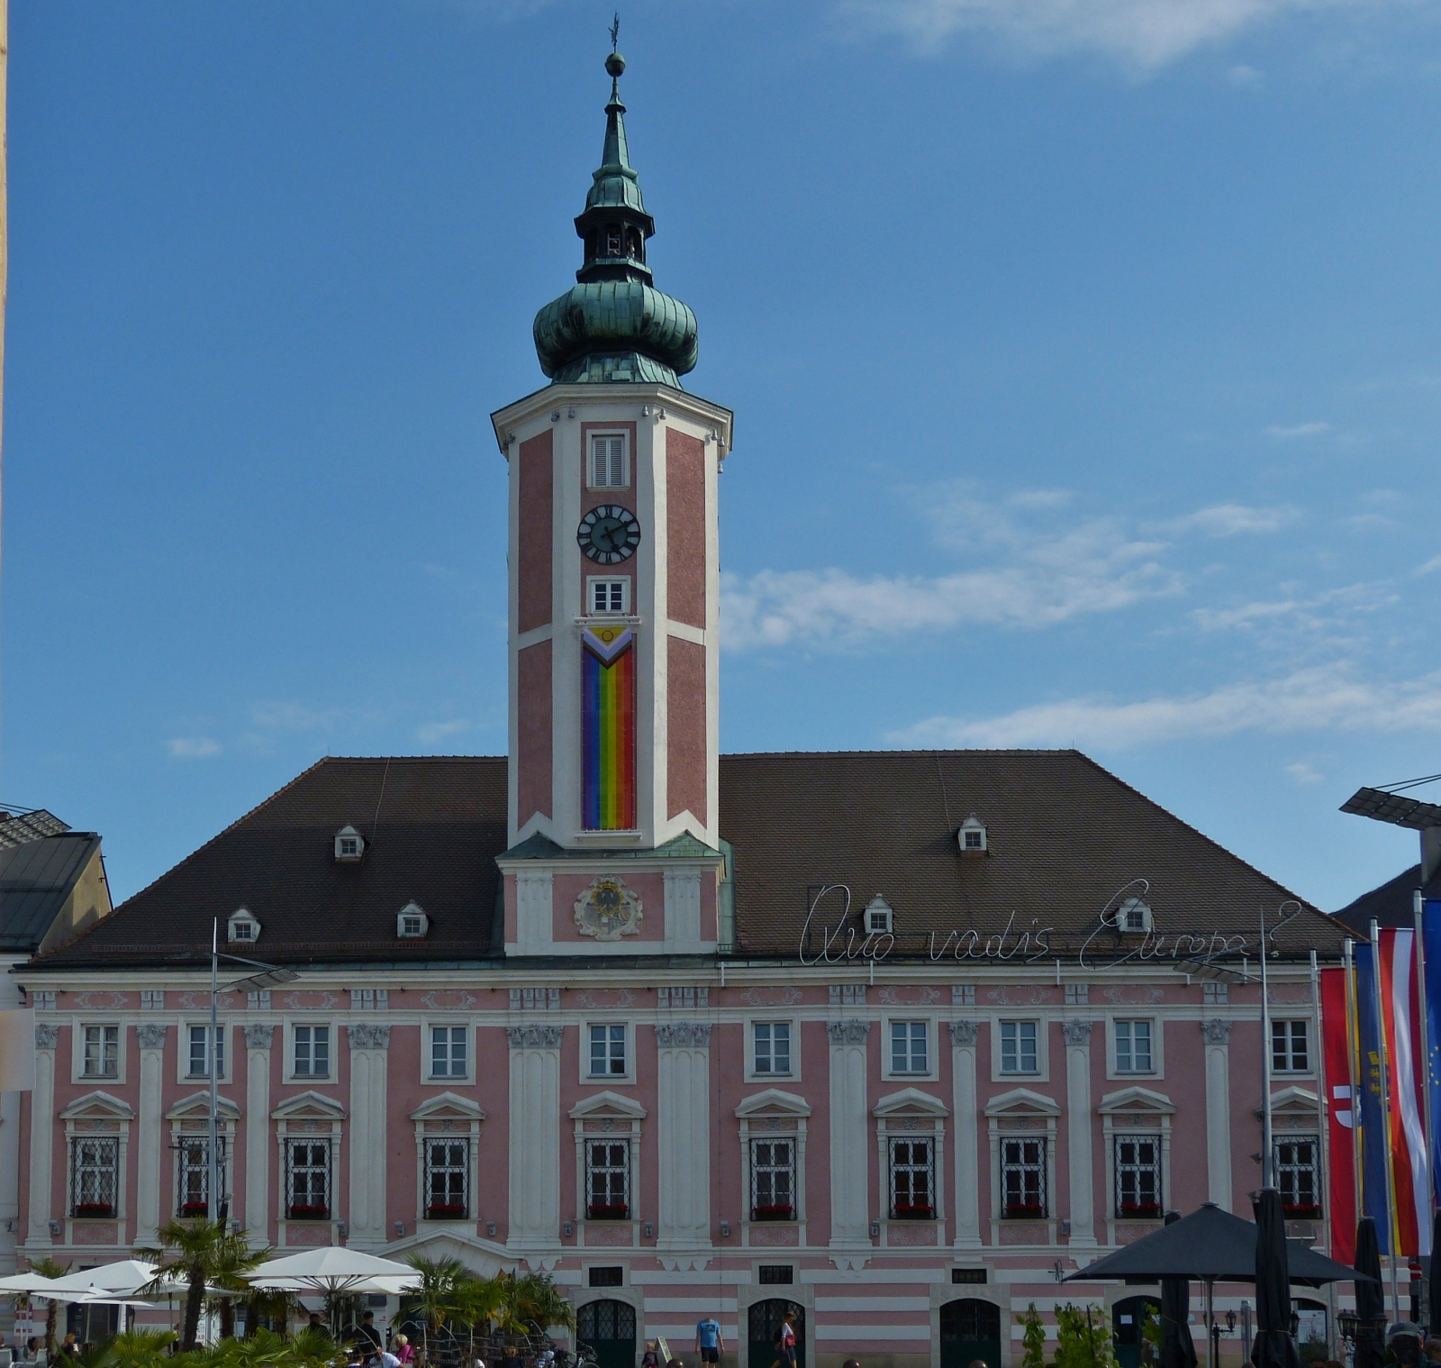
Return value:
M 333 859 L 354 826 L 359 863 Z M 254 951 L 297 960 L 474 959 L 490 950 L 506 848 L 504 758 L 321 760 L 42 964 L 183 963 L 209 956 L 210 921 L 246 907 Z M 425 940 L 398 940 L 409 901 Z

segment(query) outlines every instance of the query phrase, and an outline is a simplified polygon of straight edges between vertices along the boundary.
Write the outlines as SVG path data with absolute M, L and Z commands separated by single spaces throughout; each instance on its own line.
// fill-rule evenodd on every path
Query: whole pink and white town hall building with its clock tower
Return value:
M 1343 931 L 1075 751 L 719 754 L 732 415 L 680 385 L 624 112 L 612 81 L 549 383 L 494 414 L 509 755 L 324 760 L 16 970 L 22 1257 L 203 1212 L 215 1068 L 251 1240 L 549 1270 L 602 1368 L 689 1362 L 708 1313 L 745 1368 L 784 1315 L 806 1368 L 1009 1368 L 1068 1300 L 1134 1365 L 1156 1289 L 1058 1277 L 1249 1215 L 1265 1048 L 1324 1238 Z M 222 992 L 212 1041 L 215 921 L 298 979 Z

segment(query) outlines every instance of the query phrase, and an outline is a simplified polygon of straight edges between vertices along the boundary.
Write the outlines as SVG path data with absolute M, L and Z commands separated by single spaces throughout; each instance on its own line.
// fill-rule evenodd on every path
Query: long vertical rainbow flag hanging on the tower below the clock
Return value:
M 635 633 L 585 627 L 581 641 L 582 819 L 588 832 L 634 830 Z

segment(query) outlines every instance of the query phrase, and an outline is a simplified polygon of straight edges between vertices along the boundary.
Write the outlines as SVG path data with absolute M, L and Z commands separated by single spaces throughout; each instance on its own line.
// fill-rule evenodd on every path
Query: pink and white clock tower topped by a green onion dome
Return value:
M 536 314 L 550 383 L 491 415 L 509 463 L 507 954 L 710 953 L 718 830 L 716 476 L 731 412 L 686 394 L 696 317 L 653 285 L 620 76 Z

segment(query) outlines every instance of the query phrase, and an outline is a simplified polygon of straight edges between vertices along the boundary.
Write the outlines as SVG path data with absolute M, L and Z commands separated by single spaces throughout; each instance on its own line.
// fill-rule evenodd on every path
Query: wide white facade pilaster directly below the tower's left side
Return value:
M 513 1250 L 561 1243 L 561 1039 L 563 1026 L 507 1026 Z

